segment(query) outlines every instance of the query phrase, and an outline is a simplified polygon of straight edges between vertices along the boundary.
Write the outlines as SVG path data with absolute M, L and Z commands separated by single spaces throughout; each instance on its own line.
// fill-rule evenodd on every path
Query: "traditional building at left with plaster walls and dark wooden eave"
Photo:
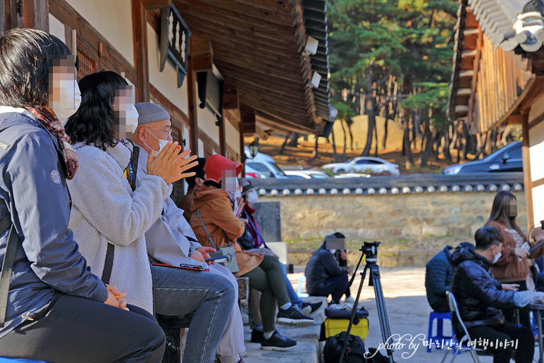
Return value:
M 319 135 L 331 121 L 325 0 L 0 0 L 0 9 L 0 33 L 34 27 L 66 42 L 78 80 L 124 74 L 135 101 L 167 109 L 174 140 L 199 156 L 243 162 L 244 136 Z

